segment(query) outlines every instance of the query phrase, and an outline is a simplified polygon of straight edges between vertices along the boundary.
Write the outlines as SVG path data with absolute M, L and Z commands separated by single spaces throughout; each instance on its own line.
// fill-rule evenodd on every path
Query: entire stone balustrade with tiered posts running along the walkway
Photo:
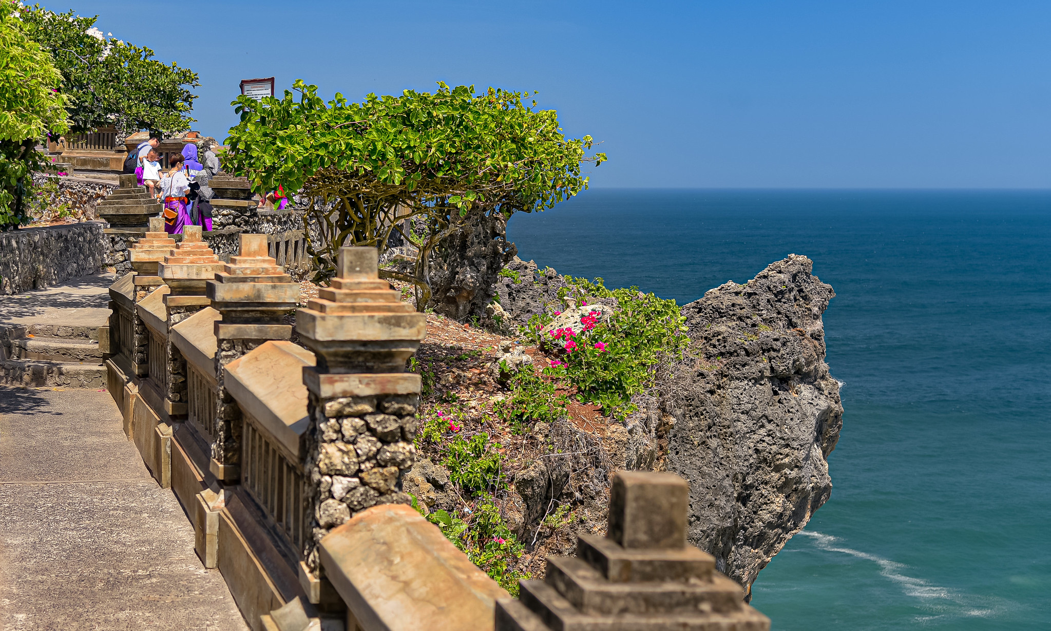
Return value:
M 252 629 L 623 629 L 602 609 L 618 598 L 638 628 L 768 629 L 685 546 L 685 486 L 667 475 L 614 485 L 612 538 L 581 537 L 594 569 L 553 558 L 508 599 L 400 490 L 420 387 L 405 366 L 425 319 L 378 279 L 376 250 L 341 250 L 331 286 L 296 311 L 304 347 L 284 323 L 298 285 L 274 241 L 239 241 L 228 263 L 198 228 L 136 244 L 135 274 L 110 289 L 122 332 L 106 365 L 126 433 Z

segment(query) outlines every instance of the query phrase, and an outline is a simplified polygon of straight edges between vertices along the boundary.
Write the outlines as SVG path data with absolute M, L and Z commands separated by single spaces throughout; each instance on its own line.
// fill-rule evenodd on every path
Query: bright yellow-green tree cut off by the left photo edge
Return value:
M 44 135 L 66 130 L 62 76 L 51 56 L 26 37 L 18 5 L 0 4 L 0 228 L 27 219 L 33 171 L 49 167 L 37 149 Z

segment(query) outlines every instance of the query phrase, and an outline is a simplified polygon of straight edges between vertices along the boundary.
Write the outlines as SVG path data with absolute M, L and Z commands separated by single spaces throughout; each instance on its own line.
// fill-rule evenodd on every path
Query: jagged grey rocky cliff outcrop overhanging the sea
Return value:
M 834 292 L 812 266 L 791 255 L 685 305 L 689 348 L 660 384 L 660 422 L 643 421 L 663 467 L 689 481 L 691 541 L 749 596 L 832 487 L 843 407 L 821 314 Z

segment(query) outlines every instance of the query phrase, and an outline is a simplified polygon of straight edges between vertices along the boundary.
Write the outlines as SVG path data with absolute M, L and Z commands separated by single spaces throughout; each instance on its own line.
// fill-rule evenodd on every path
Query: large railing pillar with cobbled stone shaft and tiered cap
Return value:
M 296 312 L 300 338 L 317 359 L 303 370 L 313 507 L 304 555 L 317 578 L 317 545 L 332 528 L 370 506 L 409 502 L 401 474 L 415 460 L 419 375 L 405 365 L 427 322 L 399 299 L 379 280 L 375 248 L 345 247 L 332 286 Z

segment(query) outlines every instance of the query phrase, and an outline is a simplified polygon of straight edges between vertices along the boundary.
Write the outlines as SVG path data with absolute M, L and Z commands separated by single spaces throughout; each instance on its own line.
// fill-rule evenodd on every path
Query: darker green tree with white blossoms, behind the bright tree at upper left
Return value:
M 197 73 L 153 59 L 149 48 L 104 37 L 95 27 L 98 16 L 56 14 L 35 4 L 23 7 L 20 18 L 26 35 L 51 54 L 62 73 L 70 131 L 116 125 L 126 134 L 176 133 L 193 122 Z

